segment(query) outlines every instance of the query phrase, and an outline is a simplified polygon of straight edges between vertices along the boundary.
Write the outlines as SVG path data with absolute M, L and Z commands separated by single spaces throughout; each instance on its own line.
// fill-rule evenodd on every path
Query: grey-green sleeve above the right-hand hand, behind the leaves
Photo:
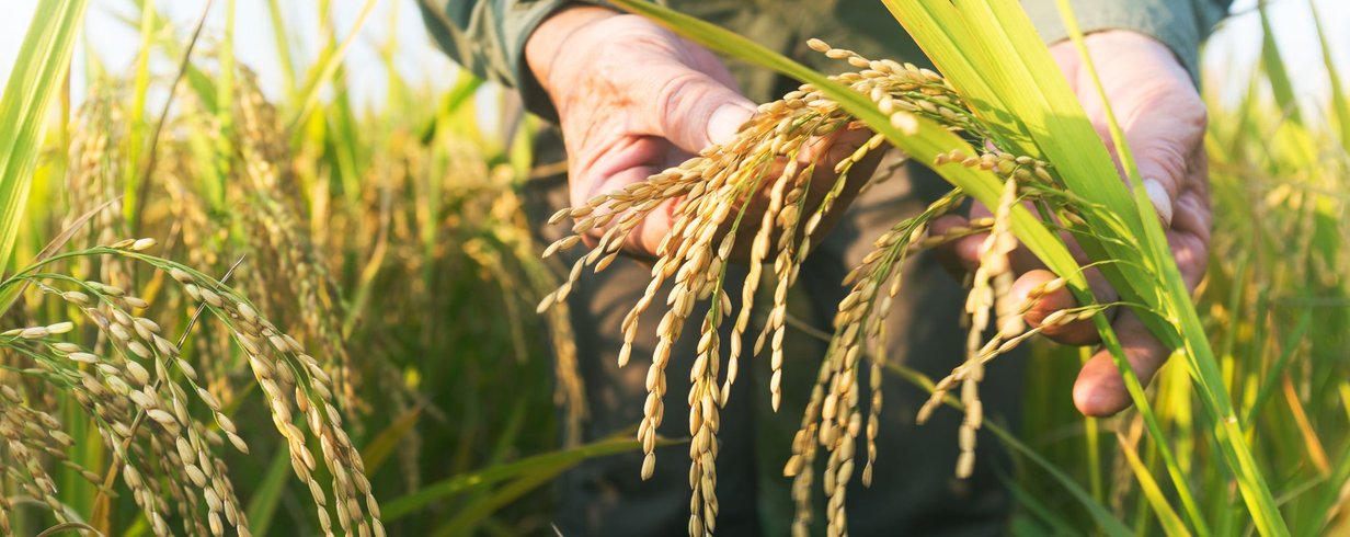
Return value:
M 1071 0 L 1083 32 L 1133 30 L 1161 40 L 1197 81 L 1200 42 L 1227 13 L 1233 0 Z M 1046 43 L 1069 36 L 1054 0 L 1022 3 Z

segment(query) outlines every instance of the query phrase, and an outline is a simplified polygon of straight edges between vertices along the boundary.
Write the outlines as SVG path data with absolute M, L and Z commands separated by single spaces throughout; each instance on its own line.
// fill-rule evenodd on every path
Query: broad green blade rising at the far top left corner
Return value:
M 0 270 L 9 266 L 46 131 L 47 107 L 61 89 L 85 0 L 43 1 L 0 98 Z

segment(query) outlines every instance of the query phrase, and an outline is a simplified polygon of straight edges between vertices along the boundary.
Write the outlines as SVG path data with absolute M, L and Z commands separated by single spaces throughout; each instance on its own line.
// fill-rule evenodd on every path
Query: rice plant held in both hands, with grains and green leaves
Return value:
M 742 125 L 734 142 L 705 150 L 645 183 L 598 196 L 554 217 L 554 221 L 576 220 L 572 227 L 575 235 L 555 243 L 545 255 L 578 244 L 583 235 L 597 237 L 591 252 L 574 267 L 571 278 L 575 279 L 587 266 L 603 270 L 606 259 L 620 254 L 633 223 L 659 204 L 676 200 L 675 223 L 656 251 L 652 283 L 625 320 L 625 341 L 633 341 L 630 331 L 636 328 L 637 317 L 657 300 L 656 290 L 668 281 L 674 282 L 659 328 L 662 344 L 655 349 L 647 375 L 647 417 L 639 429 L 639 440 L 648 453 L 641 470 L 647 476 L 653 465 L 651 444 L 655 428 L 664 417 L 660 398 L 664 395 L 670 341 L 679 336 L 679 327 L 694 302 L 706 301 L 710 305 L 701 324 L 701 355 L 690 372 L 695 379 L 688 394 L 690 434 L 694 439 L 690 449 L 694 494 L 691 534 L 711 533 L 716 528 L 717 407 L 726 403 L 721 394 L 728 393 L 726 386 L 734 382 L 741 359 L 741 349 L 733 340 L 732 352 L 725 358 L 725 380 L 720 386 L 724 360 L 717 354 L 718 329 L 728 318 L 736 318 L 733 335 L 748 329 L 748 312 L 759 281 L 756 270 L 774 259 L 778 290 L 764 332 L 748 355 L 759 354 L 767 340 L 772 341 L 774 379 L 779 378 L 783 301 L 786 289 L 792 285 L 795 263 L 810 251 L 813 233 L 829 217 L 833 202 L 840 196 L 849 196 L 849 189 L 860 188 L 856 181 L 849 181 L 850 167 L 864 162 L 868 152 L 886 142 L 910 158 L 930 163 L 954 189 L 918 217 L 900 221 L 878 237 L 878 250 L 842 282 L 852 286 L 852 293 L 840 304 L 830 349 L 792 443 L 794 455 L 784 468 L 784 474 L 796 476 L 792 488 L 798 501 L 795 533 L 805 534 L 809 529 L 811 467 L 819 457 L 819 448 L 828 453 L 822 484 L 829 498 L 829 533 L 846 533 L 846 484 L 857 465 L 863 467 L 863 482 L 869 482 L 869 467 L 876 456 L 872 439 L 878 421 L 875 414 L 864 417 L 859 410 L 857 371 L 860 367 L 873 371 L 883 367 L 879 360 L 864 362 L 864 358 L 871 356 L 869 348 L 875 348 L 869 345 L 886 336 L 879 331 L 879 320 L 888 310 L 888 297 L 902 285 L 892 267 L 902 263 L 913 248 L 946 240 L 944 236 L 929 236 L 927 224 L 967 196 L 994 212 L 991 220 L 980 223 L 980 231 L 987 231 L 988 239 L 980 248 L 980 266 L 971 281 L 967 301 L 971 318 L 968 352 L 952 375 L 932 387 L 933 398 L 918 416 L 922 422 L 948 391 L 960 389 L 965 421 L 957 441 L 961 457 L 956 474 L 969 474 L 975 430 L 983 424 L 977 393 L 983 363 L 1040 331 L 1091 320 L 1115 356 L 1139 410 L 1142 428 L 1153 436 L 1152 445 L 1161 456 L 1183 505 L 1184 522 L 1170 509 L 1160 509 L 1173 517 L 1165 528 L 1184 530 L 1189 525 L 1197 533 L 1208 533 L 1206 517 L 1180 471 L 1177 453 L 1165 441 L 1166 433 L 1154 406 L 1130 370 L 1106 316 L 1099 314 L 1106 308 L 1123 306 L 1138 314 L 1166 345 L 1179 349 L 1203 416 L 1214 424 L 1212 436 L 1204 440 L 1226 461 L 1231 472 L 1228 479 L 1245 501 L 1254 528 L 1264 534 L 1289 532 L 1272 495 L 1269 478 L 1253 455 L 1250 436 L 1241 426 L 1228 385 L 1223 382 L 1220 362 L 1176 268 L 1119 128 L 1112 119 L 1115 147 L 1129 174 L 1126 182 L 1114 179 L 1116 174 L 1111 157 L 1019 7 L 996 1 L 960 5 L 887 1 L 896 19 L 942 69 L 945 78 L 911 65 L 863 58 L 813 40 L 811 49 L 859 69 L 826 78 L 695 19 L 640 1 L 618 4 L 652 16 L 724 54 L 807 81 L 782 100 L 761 105 L 759 115 Z M 1075 28 L 1066 3 L 1061 3 L 1061 9 L 1065 24 Z M 1081 36 L 1075 39 L 1079 39 L 1084 62 L 1091 69 L 1085 49 L 1081 49 Z M 1013 54 L 995 57 L 990 53 L 994 50 Z M 811 185 L 813 179 L 819 181 L 814 173 L 819 155 L 806 150 L 809 143 L 864 124 L 876 134 L 855 155 L 840 162 L 826 185 Z M 810 196 L 813 189 L 824 194 Z M 767 204 L 761 204 L 767 206 L 764 215 L 751 215 L 755 198 L 764 192 L 768 197 Z M 1034 206 L 1037 213 L 1027 212 L 1023 205 Z M 742 232 L 745 228 L 751 231 Z M 1088 266 L 1100 270 L 1120 291 L 1120 302 L 1098 304 L 1094 300 L 1084 285 L 1084 267 L 1068 255 L 1065 244 L 1053 233 L 1058 231 L 1072 235 L 1087 251 Z M 721 282 L 738 243 L 748 243 L 749 255 L 742 259 L 748 259 L 752 273 L 742 293 L 742 310 L 730 312 L 730 300 Z M 1033 290 L 1026 302 L 1008 297 L 1013 278 L 1007 254 L 1019 243 L 1060 277 Z M 1035 328 L 1025 327 L 1021 314 L 1038 295 L 1052 290 L 1046 287 L 1071 289 L 1080 305 L 1050 313 Z M 568 291 L 570 283 L 564 283 L 541 306 L 566 297 Z M 992 337 L 987 336 L 988 332 Z M 625 344 L 620 362 L 626 362 L 626 358 Z M 873 372 L 871 378 L 878 382 L 880 375 Z M 778 382 L 771 380 L 775 406 L 780 397 L 776 390 Z M 868 407 L 875 413 L 882 401 L 876 395 L 873 398 Z M 855 460 L 864 448 L 865 460 Z M 1141 482 L 1156 491 L 1152 478 L 1141 476 Z

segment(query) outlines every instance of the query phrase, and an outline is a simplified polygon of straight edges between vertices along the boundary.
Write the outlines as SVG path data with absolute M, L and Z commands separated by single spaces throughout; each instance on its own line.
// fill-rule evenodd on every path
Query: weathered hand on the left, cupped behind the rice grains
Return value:
M 647 181 L 710 144 L 733 140 L 756 109 L 709 50 L 641 16 L 599 7 L 578 5 L 549 16 L 525 43 L 525 59 L 559 115 L 574 206 Z M 871 135 L 865 130 L 841 130 L 802 151 L 803 163 L 818 155 L 822 161 L 811 181 L 821 188 L 807 193 L 809 204 L 818 202 L 833 183 L 834 163 L 852 155 Z M 834 217 L 875 166 L 876 158 L 868 158 L 852 169 L 849 188 L 832 210 Z M 674 224 L 678 202 L 667 201 L 639 223 L 625 251 L 652 256 Z M 742 224 L 737 233 L 741 258 L 749 250 L 744 239 L 755 236 L 745 228 L 757 227 L 760 205 L 752 202 L 742 219 L 749 225 Z M 817 233 L 829 224 L 828 219 Z M 590 233 L 598 237 L 603 231 Z

